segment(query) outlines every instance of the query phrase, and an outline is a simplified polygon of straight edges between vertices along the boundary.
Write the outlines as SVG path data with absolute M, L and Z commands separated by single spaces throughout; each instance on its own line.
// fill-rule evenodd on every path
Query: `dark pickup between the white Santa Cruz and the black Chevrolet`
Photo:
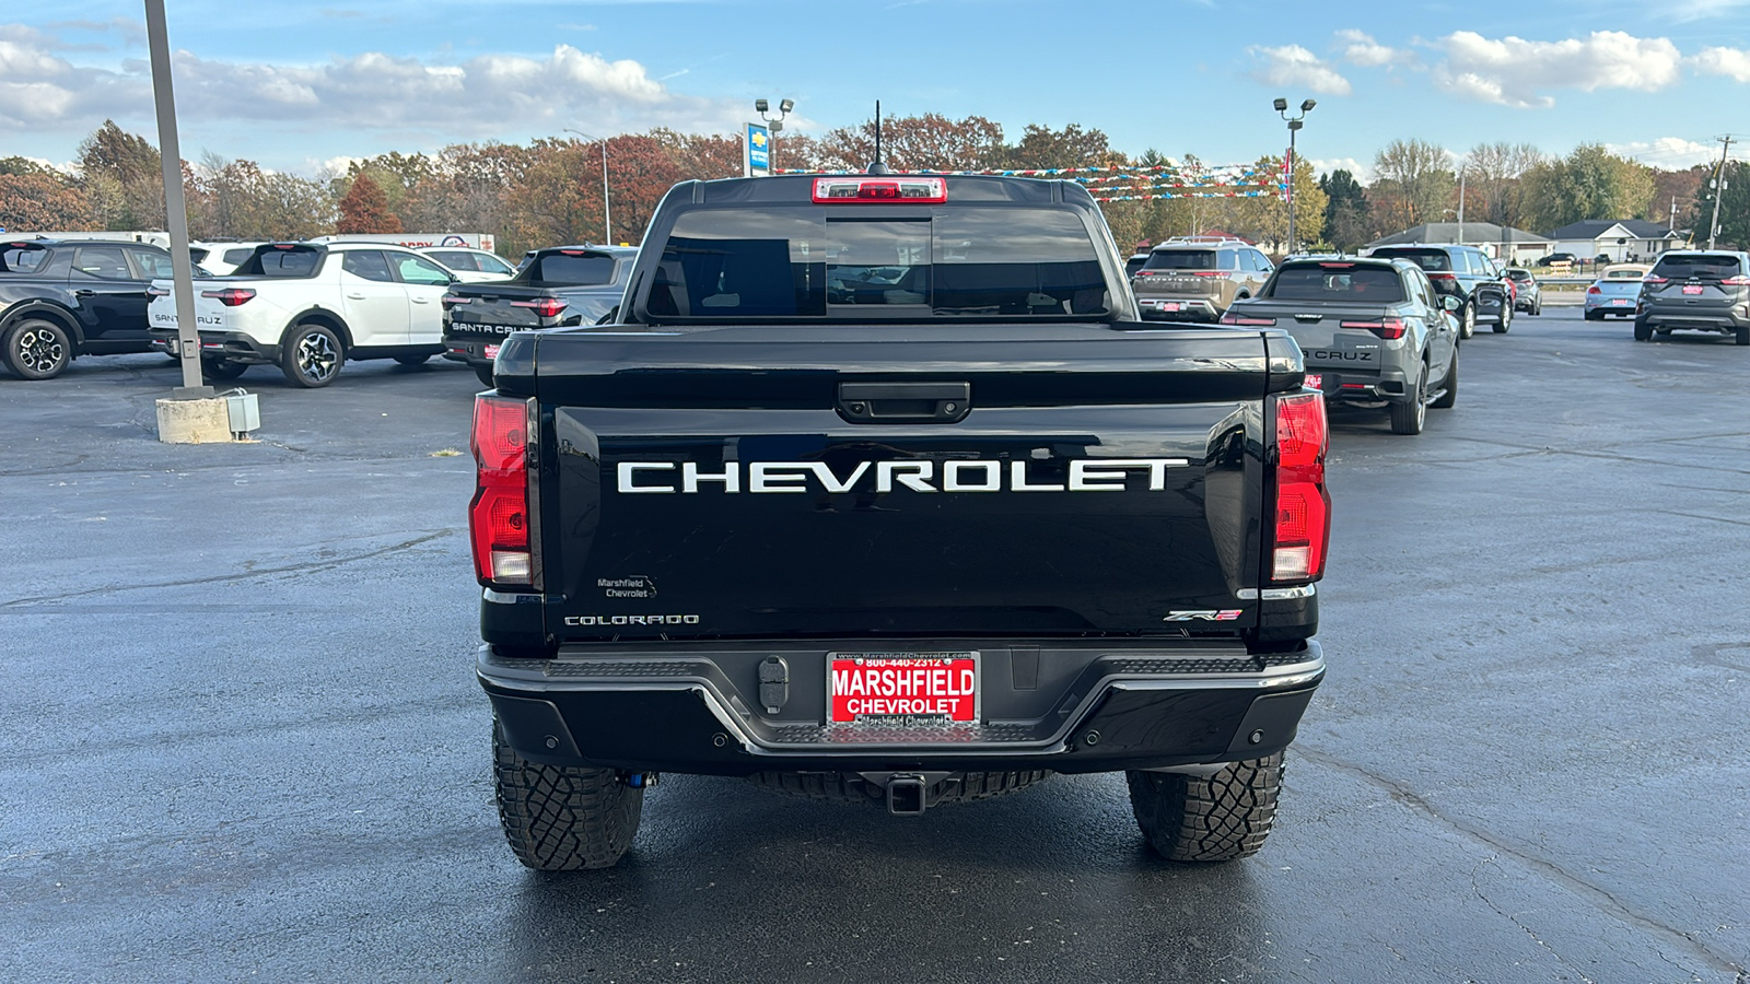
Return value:
M 443 357 L 492 385 L 492 359 L 513 331 L 595 324 L 620 303 L 635 247 L 530 250 L 509 280 L 457 284 L 443 296 Z

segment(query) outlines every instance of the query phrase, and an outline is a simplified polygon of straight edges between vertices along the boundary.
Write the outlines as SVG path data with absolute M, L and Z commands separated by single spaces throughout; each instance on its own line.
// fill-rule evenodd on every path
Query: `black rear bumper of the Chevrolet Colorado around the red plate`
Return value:
M 980 648 L 978 643 L 933 641 Z M 556 658 L 509 658 L 483 646 L 481 686 L 518 755 L 551 765 L 628 772 L 749 776 L 766 770 L 1029 770 L 1113 772 L 1167 765 L 1237 762 L 1272 755 L 1295 737 L 1300 716 L 1325 676 L 1316 641 L 1292 653 L 1251 657 L 1213 646 L 1038 646 L 1004 643 L 1003 653 L 1048 653 L 1074 660 L 1054 674 L 1032 664 L 1029 679 L 1006 658 L 984 671 L 980 723 L 822 725 L 826 653 L 870 650 L 868 641 L 802 650 L 784 643 L 665 646 L 644 655 L 620 648 L 562 650 Z M 892 650 L 889 643 L 882 648 Z M 908 646 L 910 648 L 910 646 Z M 1078 655 L 1080 653 L 1080 655 Z M 784 655 L 796 683 L 775 713 L 760 706 L 749 667 Z M 747 658 L 752 657 L 752 664 Z M 1010 674 L 992 672 L 998 669 Z M 1045 672 L 1041 672 L 1045 669 Z M 1010 676 L 1010 679 L 1001 679 Z M 1068 679 L 1046 686 L 1048 679 Z M 822 683 L 808 693 L 808 685 Z M 746 699 L 744 693 L 754 697 Z M 1043 714 L 998 718 L 1031 704 Z

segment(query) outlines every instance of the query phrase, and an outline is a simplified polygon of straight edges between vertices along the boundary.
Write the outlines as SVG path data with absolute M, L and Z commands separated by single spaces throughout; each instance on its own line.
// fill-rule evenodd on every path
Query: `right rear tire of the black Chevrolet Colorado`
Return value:
M 1130 811 L 1148 846 L 1169 861 L 1250 858 L 1270 835 L 1283 753 L 1234 762 L 1214 776 L 1125 772 Z

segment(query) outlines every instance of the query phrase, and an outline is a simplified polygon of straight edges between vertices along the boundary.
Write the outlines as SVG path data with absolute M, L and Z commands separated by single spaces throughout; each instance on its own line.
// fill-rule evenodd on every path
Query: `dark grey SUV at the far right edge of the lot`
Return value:
M 1750 345 L 1750 254 L 1671 250 L 1642 280 L 1634 338 L 1654 333 L 1717 331 Z

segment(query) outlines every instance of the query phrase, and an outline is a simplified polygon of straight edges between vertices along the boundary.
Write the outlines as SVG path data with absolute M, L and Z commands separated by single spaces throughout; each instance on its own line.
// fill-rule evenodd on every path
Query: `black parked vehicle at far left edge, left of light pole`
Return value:
M 154 245 L 0 238 L 0 357 L 23 380 L 47 380 L 79 355 L 150 352 L 154 277 L 170 277 Z

